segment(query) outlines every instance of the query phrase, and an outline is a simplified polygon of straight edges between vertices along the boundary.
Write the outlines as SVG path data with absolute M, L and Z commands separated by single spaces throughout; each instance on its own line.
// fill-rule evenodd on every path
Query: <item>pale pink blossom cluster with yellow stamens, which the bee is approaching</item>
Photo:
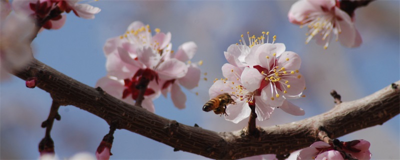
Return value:
M 209 96 L 231 95 L 235 104 L 226 106 L 227 120 L 237 123 L 248 117 L 249 105 L 255 105 L 258 120 L 268 119 L 275 107 L 304 115 L 303 109 L 286 100 L 301 97 L 305 89 L 305 80 L 298 71 L 301 59 L 295 52 L 285 51 L 283 43 L 274 43 L 276 36 L 268 43 L 268 34 L 248 35 L 249 45 L 241 35 L 240 44 L 232 44 L 224 52 L 229 62 L 222 66 L 225 79 L 215 79 Z

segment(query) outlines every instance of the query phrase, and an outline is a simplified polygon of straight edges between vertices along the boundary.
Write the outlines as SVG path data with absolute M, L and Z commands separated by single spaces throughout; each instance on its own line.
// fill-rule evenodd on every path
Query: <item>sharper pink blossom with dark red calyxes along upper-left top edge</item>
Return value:
M 46 29 L 59 29 L 66 16 L 62 12 L 71 10 L 76 16 L 92 19 L 94 14 L 100 12 L 100 8 L 89 4 L 77 3 L 80 0 L 13 0 L 12 8 L 15 12 L 32 16 L 36 23 Z

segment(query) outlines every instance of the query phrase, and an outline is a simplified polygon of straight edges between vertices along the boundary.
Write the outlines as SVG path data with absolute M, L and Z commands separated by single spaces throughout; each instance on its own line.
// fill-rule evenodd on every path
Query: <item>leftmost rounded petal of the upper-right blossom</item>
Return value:
M 307 18 L 311 12 L 321 11 L 319 6 L 313 5 L 308 0 L 298 0 L 291 5 L 287 17 L 294 24 L 302 24 L 302 21 Z

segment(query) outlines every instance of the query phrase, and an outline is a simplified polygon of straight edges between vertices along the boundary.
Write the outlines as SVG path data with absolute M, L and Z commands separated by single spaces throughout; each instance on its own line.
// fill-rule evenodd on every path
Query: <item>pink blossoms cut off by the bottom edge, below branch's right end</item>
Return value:
M 370 159 L 370 143 L 363 139 L 352 141 L 333 140 L 333 143 L 316 141 L 302 149 L 297 159 Z

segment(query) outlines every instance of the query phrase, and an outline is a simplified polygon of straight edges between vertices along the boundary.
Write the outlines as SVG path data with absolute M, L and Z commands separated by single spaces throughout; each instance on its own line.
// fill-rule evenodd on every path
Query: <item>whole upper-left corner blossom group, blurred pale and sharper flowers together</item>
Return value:
M 0 1 L 0 79 L 8 72 L 23 67 L 31 58 L 30 42 L 35 34 L 35 24 L 46 29 L 58 29 L 65 23 L 62 12 L 73 11 L 89 19 L 100 11 L 79 0 L 8 0 Z M 13 12 L 11 12 L 13 10 Z

